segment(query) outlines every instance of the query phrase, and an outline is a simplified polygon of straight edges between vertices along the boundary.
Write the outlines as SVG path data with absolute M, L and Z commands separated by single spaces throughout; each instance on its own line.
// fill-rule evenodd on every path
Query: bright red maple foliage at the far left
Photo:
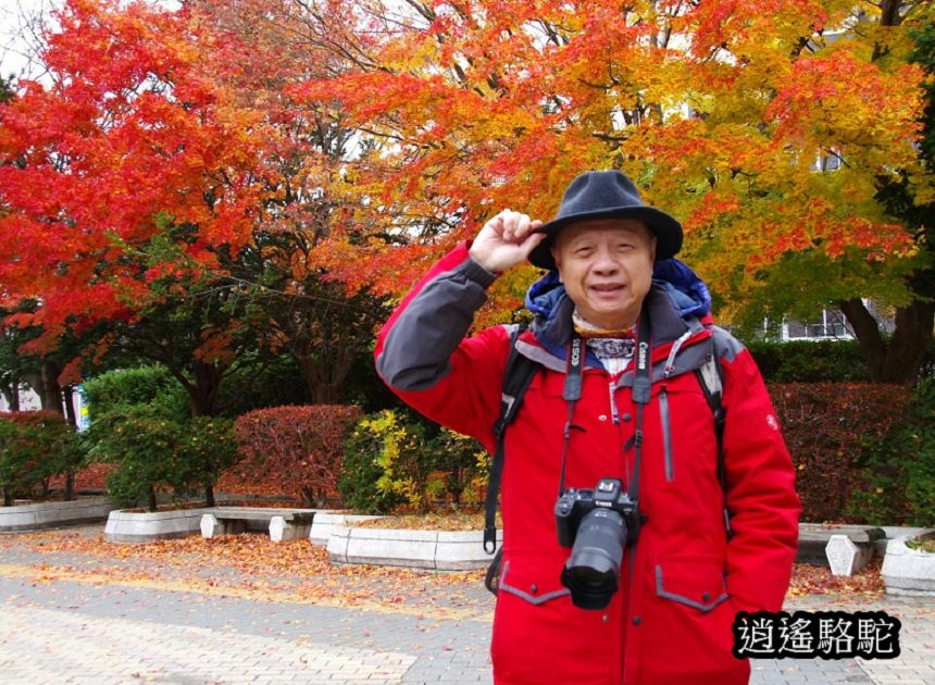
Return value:
M 225 100 L 200 58 L 210 36 L 182 14 L 75 0 L 57 16 L 42 54 L 52 83 L 20 82 L 0 112 L 0 279 L 8 302 L 38 303 L 8 317 L 40 331 L 24 351 L 90 332 L 100 351 L 114 339 L 100 324 L 136 326 L 172 299 L 154 283 L 197 281 L 246 244 L 259 116 Z M 164 245 L 173 231 L 187 233 L 178 253 Z M 210 366 L 229 331 L 199 337 Z

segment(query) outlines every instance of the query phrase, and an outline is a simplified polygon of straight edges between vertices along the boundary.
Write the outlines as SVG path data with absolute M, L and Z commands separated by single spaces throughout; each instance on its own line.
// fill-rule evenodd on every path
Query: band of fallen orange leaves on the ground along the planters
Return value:
M 148 585 L 439 618 L 489 618 L 494 607 L 483 587 L 484 571 L 334 564 L 324 547 L 309 540 L 273 543 L 262 534 L 120 545 L 108 543 L 99 528 L 73 528 L 0 536 L 0 573 L 18 569 L 36 583 Z M 885 589 L 880 568 L 877 559 L 857 575 L 838 577 L 825 566 L 796 564 L 789 597 L 878 598 Z

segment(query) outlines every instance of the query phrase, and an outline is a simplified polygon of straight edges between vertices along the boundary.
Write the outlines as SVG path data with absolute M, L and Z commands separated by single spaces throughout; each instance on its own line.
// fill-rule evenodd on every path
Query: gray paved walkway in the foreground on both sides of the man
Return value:
M 50 561 L 50 559 L 52 559 Z M 454 587 L 472 611 L 435 601 L 397 609 L 296 603 L 182 584 L 63 580 L 49 564 L 79 556 L 4 549 L 0 556 L 0 683 L 234 685 L 490 683 L 493 598 Z M 477 611 L 479 609 L 481 611 Z M 884 610 L 902 622 L 895 660 L 755 660 L 755 685 L 935 685 L 935 600 L 868 603 L 828 596 L 789 610 Z

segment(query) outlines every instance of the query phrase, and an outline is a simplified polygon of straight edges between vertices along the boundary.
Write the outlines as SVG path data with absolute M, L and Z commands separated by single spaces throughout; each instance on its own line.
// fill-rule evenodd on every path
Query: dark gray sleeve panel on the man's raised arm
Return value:
M 424 390 L 448 375 L 451 356 L 495 279 L 467 259 L 426 283 L 386 335 L 376 360 L 384 382 L 398 390 Z

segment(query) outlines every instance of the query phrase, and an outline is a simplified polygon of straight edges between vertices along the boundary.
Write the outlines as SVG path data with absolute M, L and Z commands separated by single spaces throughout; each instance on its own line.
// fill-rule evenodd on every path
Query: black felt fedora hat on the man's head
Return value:
M 669 259 L 682 249 L 682 224 L 665 212 L 643 203 L 633 182 L 619 171 L 587 172 L 572 180 L 558 215 L 537 233 L 548 237 L 529 253 L 540 267 L 556 269 L 552 242 L 559 231 L 590 219 L 637 219 L 656 234 L 656 260 Z

